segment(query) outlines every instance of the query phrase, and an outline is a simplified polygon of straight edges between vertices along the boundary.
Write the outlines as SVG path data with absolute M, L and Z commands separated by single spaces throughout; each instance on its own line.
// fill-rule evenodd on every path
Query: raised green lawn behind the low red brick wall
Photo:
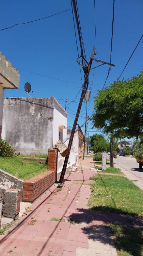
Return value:
M 0 157 L 0 169 L 22 180 L 28 180 L 47 171 L 45 163 L 25 160 L 19 156 L 13 158 Z

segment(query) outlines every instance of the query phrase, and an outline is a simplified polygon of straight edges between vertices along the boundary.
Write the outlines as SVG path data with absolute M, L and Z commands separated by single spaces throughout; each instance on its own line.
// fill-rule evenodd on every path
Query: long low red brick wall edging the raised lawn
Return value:
M 24 181 L 23 201 L 33 202 L 55 182 L 55 172 L 47 171 Z

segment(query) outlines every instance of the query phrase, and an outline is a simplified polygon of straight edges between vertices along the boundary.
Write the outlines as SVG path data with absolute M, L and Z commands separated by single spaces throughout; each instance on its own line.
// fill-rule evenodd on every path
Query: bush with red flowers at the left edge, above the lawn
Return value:
M 5 139 L 1 139 L 0 156 L 13 157 L 15 149 L 13 149 Z

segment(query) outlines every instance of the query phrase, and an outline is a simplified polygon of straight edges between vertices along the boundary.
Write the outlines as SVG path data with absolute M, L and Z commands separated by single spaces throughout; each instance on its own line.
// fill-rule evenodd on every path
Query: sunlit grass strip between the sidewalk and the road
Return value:
M 127 178 L 98 173 L 91 179 L 89 209 L 143 216 L 143 191 Z

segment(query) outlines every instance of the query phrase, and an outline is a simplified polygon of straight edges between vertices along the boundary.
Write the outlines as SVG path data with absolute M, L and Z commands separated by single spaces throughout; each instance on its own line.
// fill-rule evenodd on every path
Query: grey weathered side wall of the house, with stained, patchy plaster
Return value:
M 2 138 L 21 154 L 47 154 L 53 146 L 54 98 L 4 98 Z

